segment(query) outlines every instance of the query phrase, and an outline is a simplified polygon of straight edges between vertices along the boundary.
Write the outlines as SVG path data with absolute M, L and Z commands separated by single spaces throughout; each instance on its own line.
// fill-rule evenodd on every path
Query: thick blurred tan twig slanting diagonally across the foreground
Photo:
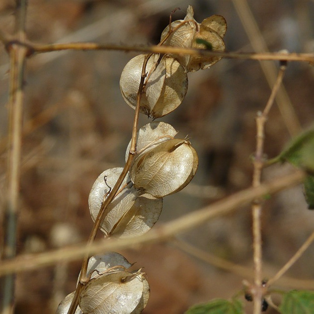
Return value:
M 285 188 L 300 184 L 305 177 L 306 174 L 303 171 L 294 171 L 293 173 L 276 178 L 268 183 L 263 183 L 257 188 L 247 188 L 227 196 L 209 206 L 169 221 L 162 226 L 155 227 L 138 237 L 101 240 L 94 242 L 89 248 L 76 245 L 39 254 L 20 255 L 10 261 L 3 261 L 0 264 L 0 275 L 37 269 L 39 267 L 53 265 L 61 260 L 76 260 L 84 256 L 87 251 L 89 251 L 90 254 L 99 254 L 103 251 L 121 250 L 138 247 L 139 244 L 164 241 L 175 234 L 195 228 L 197 225 L 208 220 L 231 213 L 240 206 L 249 204 L 255 198 L 274 194 Z

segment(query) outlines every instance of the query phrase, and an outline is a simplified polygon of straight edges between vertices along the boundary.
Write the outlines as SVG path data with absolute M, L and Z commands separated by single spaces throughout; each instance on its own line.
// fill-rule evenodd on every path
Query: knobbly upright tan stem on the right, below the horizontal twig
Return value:
M 280 66 L 277 80 L 272 89 L 271 95 L 264 108 L 263 112 L 259 112 L 256 118 L 256 150 L 253 161 L 253 187 L 259 187 L 261 185 L 262 168 L 264 165 L 264 137 L 265 137 L 265 123 L 269 114 L 269 111 L 274 103 L 276 94 L 283 81 L 283 74 L 286 69 L 286 64 L 283 63 Z M 253 229 L 253 263 L 254 263 L 254 314 L 259 314 L 261 311 L 262 293 L 264 287 L 262 287 L 262 237 L 261 237 L 261 200 L 260 198 L 254 199 L 252 203 L 252 229 Z

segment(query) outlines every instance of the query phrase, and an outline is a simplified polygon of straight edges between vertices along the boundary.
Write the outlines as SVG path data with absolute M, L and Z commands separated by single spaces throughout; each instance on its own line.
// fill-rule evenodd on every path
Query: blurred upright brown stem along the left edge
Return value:
M 16 1 L 15 35 L 19 41 L 25 41 L 26 0 Z M 22 122 L 23 122 L 23 81 L 27 49 L 18 44 L 7 47 L 10 56 L 9 86 L 9 129 L 8 156 L 4 202 L 4 241 L 1 258 L 12 258 L 16 255 L 17 216 L 21 168 Z M 3 297 L 1 314 L 12 314 L 14 311 L 15 276 L 3 278 Z

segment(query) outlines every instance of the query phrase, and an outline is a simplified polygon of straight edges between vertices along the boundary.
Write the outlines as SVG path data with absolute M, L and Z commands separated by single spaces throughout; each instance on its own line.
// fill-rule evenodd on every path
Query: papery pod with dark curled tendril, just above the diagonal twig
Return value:
M 123 168 L 108 169 L 95 181 L 89 196 L 90 212 L 94 221 L 105 195 L 115 185 L 122 170 Z M 132 186 L 129 176 L 126 176 L 118 193 L 106 209 L 100 230 L 106 236 L 114 235 L 121 238 L 149 231 L 159 218 L 162 199 L 155 199 L 148 195 L 139 197 L 142 191 Z

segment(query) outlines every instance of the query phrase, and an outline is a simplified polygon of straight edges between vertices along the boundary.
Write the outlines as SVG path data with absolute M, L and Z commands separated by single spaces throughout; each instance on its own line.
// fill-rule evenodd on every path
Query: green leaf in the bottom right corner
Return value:
M 314 291 L 288 291 L 279 310 L 282 314 L 314 314 Z

